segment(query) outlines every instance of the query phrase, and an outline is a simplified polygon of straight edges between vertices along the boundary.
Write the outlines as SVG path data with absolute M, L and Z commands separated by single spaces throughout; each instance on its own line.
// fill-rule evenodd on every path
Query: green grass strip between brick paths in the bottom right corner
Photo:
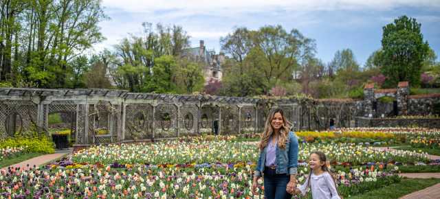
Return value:
M 352 196 L 350 199 L 392 199 L 392 198 L 400 198 L 401 196 L 405 196 L 414 191 L 419 191 L 421 189 L 425 189 L 426 187 L 431 187 L 440 183 L 440 179 L 410 179 L 404 178 L 400 181 L 400 183 L 395 183 L 393 185 L 389 185 L 386 187 L 382 187 L 381 189 L 376 189 L 374 191 L 370 191 L 366 194 Z

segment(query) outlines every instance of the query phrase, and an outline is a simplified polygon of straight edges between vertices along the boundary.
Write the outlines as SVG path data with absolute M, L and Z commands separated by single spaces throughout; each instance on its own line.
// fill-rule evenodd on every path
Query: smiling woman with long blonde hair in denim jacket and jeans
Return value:
M 267 117 L 259 150 L 252 193 L 256 194 L 257 181 L 264 174 L 265 198 L 292 198 L 298 172 L 298 139 L 289 130 L 282 109 L 273 110 Z

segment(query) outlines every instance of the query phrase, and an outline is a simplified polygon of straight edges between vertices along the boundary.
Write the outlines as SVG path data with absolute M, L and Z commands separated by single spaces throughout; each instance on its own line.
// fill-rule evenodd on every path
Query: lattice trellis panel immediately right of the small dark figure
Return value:
M 237 106 L 221 107 L 221 134 L 239 132 L 239 108 Z

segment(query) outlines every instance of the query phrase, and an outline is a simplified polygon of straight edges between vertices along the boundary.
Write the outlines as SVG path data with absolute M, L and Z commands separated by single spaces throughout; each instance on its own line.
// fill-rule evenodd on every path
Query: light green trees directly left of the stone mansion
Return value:
M 164 59 L 175 62 L 175 59 L 180 57 L 184 48 L 188 47 L 189 36 L 180 26 L 176 25 L 169 27 L 158 23 L 154 29 L 151 23 L 142 23 L 142 27 L 144 28 L 143 36 L 131 35 L 124 38 L 119 45 L 116 45 L 114 59 L 116 67 L 111 69 L 112 78 L 120 89 L 129 89 L 132 92 L 159 92 L 155 89 L 164 89 L 161 91 L 171 92 L 168 90 L 169 88 L 162 87 L 164 84 L 152 80 L 152 78 L 157 78 L 154 73 L 155 70 L 159 70 L 160 75 L 163 75 L 162 72 L 164 72 L 161 71 L 162 69 L 157 68 L 159 67 L 157 59 L 162 58 L 162 60 L 159 60 L 160 64 L 164 63 L 162 62 Z M 189 73 L 189 71 L 186 72 Z M 175 81 L 177 71 L 170 71 L 170 74 Z M 159 80 L 162 79 L 159 78 Z M 189 86 L 190 90 L 194 89 L 196 82 L 191 80 L 187 82 L 191 84 Z M 173 84 L 175 83 L 173 82 Z M 173 92 L 177 92 L 175 88 Z

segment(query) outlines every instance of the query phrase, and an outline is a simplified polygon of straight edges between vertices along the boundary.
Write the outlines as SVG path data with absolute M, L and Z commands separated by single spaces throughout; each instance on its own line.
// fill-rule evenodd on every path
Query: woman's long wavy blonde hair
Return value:
M 272 128 L 271 123 L 272 123 L 272 119 L 274 119 L 275 113 L 280 113 L 281 117 L 283 117 L 283 126 L 281 126 L 280 132 L 278 132 L 278 148 L 281 148 L 281 149 L 286 148 L 286 142 L 287 142 L 287 139 L 289 138 L 289 131 L 290 131 L 289 124 L 290 124 L 290 122 L 287 121 L 287 119 L 284 117 L 283 109 L 276 108 L 275 110 L 272 110 L 269 117 L 267 117 L 267 119 L 266 119 L 264 131 L 263 131 L 263 133 L 261 133 L 261 139 L 260 139 L 260 143 L 258 145 L 258 148 L 260 150 L 263 150 L 267 146 L 267 143 L 269 143 L 270 137 L 274 133 L 274 128 Z

